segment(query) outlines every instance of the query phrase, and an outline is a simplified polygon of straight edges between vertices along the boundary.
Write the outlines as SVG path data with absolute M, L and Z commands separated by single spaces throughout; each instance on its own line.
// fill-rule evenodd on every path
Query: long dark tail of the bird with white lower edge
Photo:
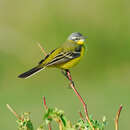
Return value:
M 34 67 L 34 68 L 32 68 L 31 70 L 29 70 L 29 71 L 27 71 L 27 72 L 25 72 L 25 73 L 20 74 L 18 77 L 19 77 L 19 78 L 29 78 L 30 76 L 32 76 L 32 75 L 38 73 L 38 72 L 41 71 L 42 69 L 43 69 L 43 67 L 37 66 L 37 67 Z

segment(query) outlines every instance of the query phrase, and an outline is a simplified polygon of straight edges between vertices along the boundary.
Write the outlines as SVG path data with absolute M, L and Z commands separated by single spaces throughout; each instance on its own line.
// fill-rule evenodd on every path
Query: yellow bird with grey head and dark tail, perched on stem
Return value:
M 20 74 L 19 78 L 29 78 L 39 71 L 55 67 L 68 70 L 80 62 L 86 50 L 87 37 L 79 32 L 70 34 L 67 40 L 58 48 L 52 50 L 38 65 L 27 72 Z

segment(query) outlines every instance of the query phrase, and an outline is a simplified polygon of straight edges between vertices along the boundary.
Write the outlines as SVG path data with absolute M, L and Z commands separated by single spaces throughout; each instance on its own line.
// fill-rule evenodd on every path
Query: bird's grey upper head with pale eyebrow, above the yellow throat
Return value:
M 87 37 L 84 37 L 81 33 L 79 32 L 74 32 L 72 33 L 69 37 L 68 40 L 72 40 L 74 42 L 77 42 L 79 40 L 85 41 Z

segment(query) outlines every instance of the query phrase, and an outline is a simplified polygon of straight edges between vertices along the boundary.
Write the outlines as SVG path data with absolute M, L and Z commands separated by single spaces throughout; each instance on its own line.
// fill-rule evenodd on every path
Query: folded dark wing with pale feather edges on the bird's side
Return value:
M 59 53 L 55 58 L 52 59 L 49 63 L 46 64 L 46 66 L 51 66 L 51 65 L 58 65 L 58 64 L 63 64 L 65 62 L 68 62 L 72 59 L 75 59 L 80 56 L 80 52 L 61 52 Z

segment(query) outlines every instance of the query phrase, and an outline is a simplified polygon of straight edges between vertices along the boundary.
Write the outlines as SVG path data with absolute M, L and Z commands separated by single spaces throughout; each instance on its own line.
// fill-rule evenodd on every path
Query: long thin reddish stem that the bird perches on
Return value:
M 85 112 L 85 117 L 86 117 L 86 120 L 88 121 L 88 123 L 90 124 L 92 130 L 95 130 L 95 128 L 93 127 L 90 119 L 89 119 L 89 116 L 88 116 L 88 110 L 87 110 L 87 105 L 85 104 L 83 98 L 80 96 L 78 90 L 75 88 L 75 85 L 74 85 L 74 82 L 72 81 L 72 77 L 71 77 L 71 74 L 70 74 L 70 71 L 69 70 L 65 70 L 66 71 L 66 77 L 69 79 L 70 81 L 70 86 L 71 88 L 74 90 L 75 94 L 78 96 L 80 102 L 83 104 L 83 108 L 84 108 L 84 112 Z

